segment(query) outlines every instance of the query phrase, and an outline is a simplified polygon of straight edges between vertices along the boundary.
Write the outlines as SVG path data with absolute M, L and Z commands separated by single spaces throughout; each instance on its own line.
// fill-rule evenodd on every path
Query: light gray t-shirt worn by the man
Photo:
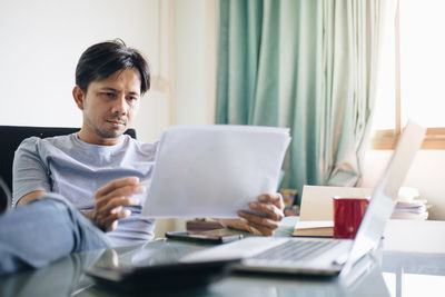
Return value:
M 125 135 L 115 146 L 81 141 L 77 133 L 20 145 L 13 161 L 12 202 L 24 195 L 44 190 L 62 195 L 79 210 L 93 208 L 95 192 L 111 180 L 129 176 L 150 179 L 156 143 L 142 143 Z M 128 207 L 131 216 L 108 232 L 115 246 L 146 241 L 154 237 L 155 219 L 140 217 L 146 195 L 135 195 L 140 206 Z

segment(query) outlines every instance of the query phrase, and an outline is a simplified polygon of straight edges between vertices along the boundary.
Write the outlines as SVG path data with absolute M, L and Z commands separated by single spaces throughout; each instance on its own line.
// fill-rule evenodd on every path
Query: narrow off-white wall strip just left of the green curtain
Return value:
M 175 1 L 176 125 L 215 122 L 216 17 L 216 0 Z M 186 220 L 176 219 L 175 229 Z

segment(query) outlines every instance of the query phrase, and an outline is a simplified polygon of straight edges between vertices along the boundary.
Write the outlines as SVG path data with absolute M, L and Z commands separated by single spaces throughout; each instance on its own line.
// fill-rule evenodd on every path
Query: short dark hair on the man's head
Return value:
M 142 55 L 120 40 L 100 42 L 89 47 L 80 57 L 76 68 L 76 85 L 87 92 L 91 81 L 100 81 L 119 70 L 139 70 L 140 93 L 150 89 L 150 69 Z

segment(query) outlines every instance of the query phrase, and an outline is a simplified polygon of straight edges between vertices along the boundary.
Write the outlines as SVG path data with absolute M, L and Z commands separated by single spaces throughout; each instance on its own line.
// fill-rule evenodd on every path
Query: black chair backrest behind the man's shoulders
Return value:
M 70 135 L 79 130 L 80 128 L 0 126 L 0 177 L 12 190 L 12 161 L 17 148 L 24 139 L 32 136 L 47 138 Z M 126 133 L 136 139 L 135 129 L 128 129 Z

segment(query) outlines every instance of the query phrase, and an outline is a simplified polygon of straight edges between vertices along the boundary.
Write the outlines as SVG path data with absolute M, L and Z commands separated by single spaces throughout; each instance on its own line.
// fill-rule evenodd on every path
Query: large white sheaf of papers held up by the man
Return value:
M 142 209 L 149 217 L 235 218 L 275 192 L 287 128 L 176 126 L 164 131 Z

